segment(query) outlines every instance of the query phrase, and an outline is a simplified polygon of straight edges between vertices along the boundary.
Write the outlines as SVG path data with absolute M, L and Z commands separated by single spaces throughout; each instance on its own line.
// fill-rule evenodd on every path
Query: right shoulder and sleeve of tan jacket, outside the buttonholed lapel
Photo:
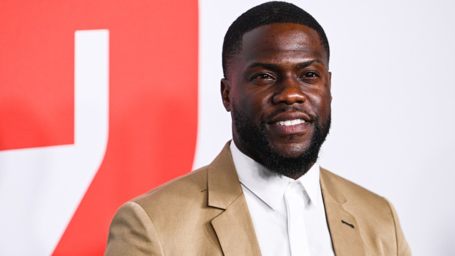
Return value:
M 320 174 L 323 197 L 334 198 L 355 218 L 367 251 L 383 252 L 381 255 L 411 255 L 397 214 L 387 199 L 326 169 L 321 168 Z

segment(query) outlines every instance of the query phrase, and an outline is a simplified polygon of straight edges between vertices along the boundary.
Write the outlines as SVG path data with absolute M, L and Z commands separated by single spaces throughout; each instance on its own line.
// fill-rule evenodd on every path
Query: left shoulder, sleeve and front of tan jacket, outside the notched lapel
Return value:
M 107 254 L 220 255 L 210 221 L 222 210 L 207 205 L 207 169 L 124 203 L 111 223 Z

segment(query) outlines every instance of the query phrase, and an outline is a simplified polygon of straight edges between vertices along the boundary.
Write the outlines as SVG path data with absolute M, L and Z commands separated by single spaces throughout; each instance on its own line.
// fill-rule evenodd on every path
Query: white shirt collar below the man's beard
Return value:
M 295 181 L 304 187 L 311 203 L 316 206 L 322 203 L 321 184 L 319 183 L 320 170 L 317 162 L 297 180 L 286 176 L 279 178 L 271 174 L 265 166 L 242 153 L 234 141 L 231 142 L 230 149 L 240 183 L 272 209 L 277 209 L 289 183 Z

